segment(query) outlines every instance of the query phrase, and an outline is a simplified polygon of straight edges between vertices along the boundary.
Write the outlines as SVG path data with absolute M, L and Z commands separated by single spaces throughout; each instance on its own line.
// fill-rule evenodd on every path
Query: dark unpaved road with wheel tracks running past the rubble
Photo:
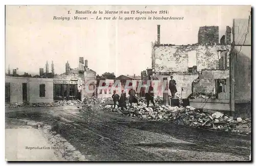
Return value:
M 141 121 L 76 106 L 6 109 L 6 128 L 13 118 L 51 125 L 93 161 L 248 161 L 251 151 L 250 135 Z

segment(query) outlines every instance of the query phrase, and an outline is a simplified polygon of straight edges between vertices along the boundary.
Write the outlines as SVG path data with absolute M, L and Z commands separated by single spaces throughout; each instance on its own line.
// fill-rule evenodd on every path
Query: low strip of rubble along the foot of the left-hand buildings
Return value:
M 79 100 L 72 100 L 72 101 L 58 101 L 53 103 L 30 103 L 30 102 L 23 102 L 22 104 L 5 104 L 5 108 L 18 108 L 18 107 L 58 107 L 58 106 L 69 106 L 69 105 L 81 105 L 82 102 Z

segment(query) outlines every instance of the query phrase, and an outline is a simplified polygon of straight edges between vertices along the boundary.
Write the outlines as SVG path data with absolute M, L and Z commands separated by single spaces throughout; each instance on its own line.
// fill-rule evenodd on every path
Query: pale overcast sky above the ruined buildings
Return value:
M 68 14 L 68 11 L 71 14 Z M 122 17 L 172 16 L 183 20 L 96 20 L 93 14 L 76 15 L 75 10 L 159 11 L 166 15 L 109 15 Z M 151 41 L 176 45 L 197 43 L 200 26 L 219 26 L 221 38 L 233 18 L 248 18 L 249 6 L 7 6 L 6 72 L 10 65 L 21 72 L 39 74 L 48 60 L 54 61 L 55 74 L 65 72 L 65 63 L 78 66 L 78 58 L 88 60 L 89 68 L 101 75 L 140 75 L 151 67 Z M 89 20 L 53 20 L 54 16 L 88 16 Z M 90 19 L 94 17 L 94 19 Z

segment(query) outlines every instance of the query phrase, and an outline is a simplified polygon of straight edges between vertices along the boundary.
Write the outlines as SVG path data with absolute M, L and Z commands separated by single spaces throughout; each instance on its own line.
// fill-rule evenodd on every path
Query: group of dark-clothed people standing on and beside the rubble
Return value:
M 170 81 L 169 81 L 169 90 L 170 93 L 172 94 L 172 98 L 175 97 L 175 93 L 177 92 L 176 88 L 176 81 L 173 79 L 173 76 L 170 76 Z M 150 102 L 155 107 L 155 102 L 154 102 L 154 88 L 152 85 L 148 88 L 147 92 L 145 93 L 145 99 L 147 102 L 147 107 L 150 105 Z M 129 103 L 132 106 L 133 103 L 136 103 L 139 105 L 138 100 L 136 98 L 136 91 L 134 89 L 131 89 L 129 91 Z M 123 110 L 123 107 L 127 109 L 126 106 L 126 92 L 122 90 L 121 96 L 119 96 L 116 91 L 114 91 L 114 94 L 112 95 L 113 101 L 114 101 L 114 108 L 121 107 L 121 110 Z

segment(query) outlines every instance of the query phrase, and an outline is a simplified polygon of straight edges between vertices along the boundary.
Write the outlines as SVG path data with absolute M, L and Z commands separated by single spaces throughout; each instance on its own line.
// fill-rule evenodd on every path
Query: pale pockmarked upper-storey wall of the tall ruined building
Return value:
M 155 45 L 153 67 L 155 72 L 187 72 L 188 66 L 194 63 L 198 72 L 219 69 L 220 54 L 224 51 L 229 54 L 230 45 Z

